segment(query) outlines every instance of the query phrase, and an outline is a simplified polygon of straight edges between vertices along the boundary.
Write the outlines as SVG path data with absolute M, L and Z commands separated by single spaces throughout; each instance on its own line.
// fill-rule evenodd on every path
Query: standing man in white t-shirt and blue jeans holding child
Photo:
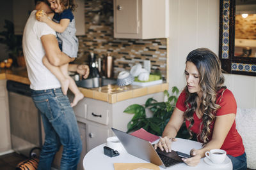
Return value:
M 77 127 L 74 111 L 67 96 L 61 91 L 60 82 L 42 64 L 42 58 L 47 56 L 54 66 L 61 66 L 72 61 L 60 51 L 56 32 L 44 22 L 35 18 L 36 10 L 51 12 L 44 2 L 37 2 L 31 12 L 22 39 L 23 52 L 31 81 L 31 97 L 36 108 L 40 110 L 45 130 L 45 142 L 40 153 L 38 169 L 51 169 L 54 155 L 63 145 L 60 169 L 76 169 L 82 149 L 81 138 Z M 70 65 L 72 71 L 78 71 L 87 78 L 88 66 Z

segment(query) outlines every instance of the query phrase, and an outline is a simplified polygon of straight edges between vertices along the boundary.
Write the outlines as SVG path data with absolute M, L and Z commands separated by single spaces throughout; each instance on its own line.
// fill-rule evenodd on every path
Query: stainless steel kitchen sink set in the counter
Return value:
M 116 84 L 116 79 L 113 78 L 87 78 L 84 80 L 76 81 L 76 85 L 78 87 L 84 87 L 84 88 L 95 88 L 95 87 L 102 87 L 106 85 L 114 85 Z

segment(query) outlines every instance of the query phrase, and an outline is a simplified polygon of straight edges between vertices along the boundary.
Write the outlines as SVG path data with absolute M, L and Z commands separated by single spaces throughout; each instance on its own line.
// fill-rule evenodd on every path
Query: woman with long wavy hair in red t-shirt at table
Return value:
M 246 169 L 243 141 L 236 130 L 236 99 L 223 86 L 220 60 L 207 48 L 193 50 L 186 59 L 185 76 L 187 85 L 155 148 L 170 152 L 185 120 L 191 136 L 195 134 L 204 144 L 200 150 L 191 150 L 191 158 L 182 159 L 186 164 L 196 166 L 205 152 L 220 148 L 232 160 L 233 169 Z

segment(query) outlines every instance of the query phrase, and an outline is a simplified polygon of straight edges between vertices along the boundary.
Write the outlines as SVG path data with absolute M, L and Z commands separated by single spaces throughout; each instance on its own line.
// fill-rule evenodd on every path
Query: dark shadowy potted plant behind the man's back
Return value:
M 10 20 L 4 20 L 4 31 L 0 32 L 0 43 L 7 46 L 9 58 L 13 60 L 15 66 L 24 66 L 24 56 L 22 54 L 22 36 L 14 34 L 14 24 Z

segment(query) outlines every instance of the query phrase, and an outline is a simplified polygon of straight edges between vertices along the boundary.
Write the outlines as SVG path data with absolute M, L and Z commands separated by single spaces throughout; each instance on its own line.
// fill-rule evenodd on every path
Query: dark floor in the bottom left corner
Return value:
M 0 156 L 0 169 L 1 170 L 15 170 L 15 167 L 22 160 L 28 159 L 27 157 L 13 152 Z

